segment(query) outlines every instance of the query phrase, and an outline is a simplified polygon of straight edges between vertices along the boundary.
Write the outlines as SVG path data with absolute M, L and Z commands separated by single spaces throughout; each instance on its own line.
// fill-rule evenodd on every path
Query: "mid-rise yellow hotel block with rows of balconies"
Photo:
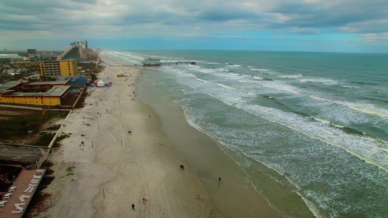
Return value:
M 78 74 L 77 60 L 39 61 L 42 76 L 74 76 Z

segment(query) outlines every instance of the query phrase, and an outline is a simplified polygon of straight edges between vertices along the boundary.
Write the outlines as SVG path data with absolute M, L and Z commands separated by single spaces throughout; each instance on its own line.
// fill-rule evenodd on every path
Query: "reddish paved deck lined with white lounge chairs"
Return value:
M 39 169 L 39 170 L 44 170 L 44 169 Z M 42 173 L 42 178 L 43 175 L 45 174 L 46 170 L 43 171 Z M 40 178 L 38 184 L 35 186 L 34 190 L 31 193 L 26 193 L 24 190 L 26 190 L 29 186 L 29 183 L 31 183 L 31 179 L 33 176 L 37 173 L 36 170 L 25 170 L 25 168 L 21 171 L 19 176 L 17 176 L 14 184 L 12 186 L 16 186 L 16 189 L 14 192 L 7 192 L 7 193 L 12 193 L 9 199 L 4 199 L 3 201 L 7 201 L 5 203 L 5 206 L 0 208 L 0 218 L 10 218 L 10 217 L 15 217 L 15 218 L 20 218 L 23 216 L 24 212 L 26 211 L 26 208 L 31 201 L 33 195 L 35 194 L 36 189 L 38 188 L 40 182 L 42 181 L 42 178 Z M 23 208 L 23 213 L 19 213 L 17 215 L 14 215 L 11 211 L 17 211 L 15 208 L 15 204 L 21 203 L 19 200 L 19 197 L 22 195 L 30 196 L 29 198 L 24 199 L 26 205 L 21 206 Z

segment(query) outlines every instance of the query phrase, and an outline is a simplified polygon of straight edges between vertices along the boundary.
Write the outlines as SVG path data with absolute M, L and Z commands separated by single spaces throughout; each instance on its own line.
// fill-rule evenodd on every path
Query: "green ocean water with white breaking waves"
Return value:
M 283 217 L 388 217 L 387 54 L 104 53 L 123 64 L 196 61 L 145 72 L 159 72 L 149 78 L 153 87 L 214 138 Z M 306 207 L 282 196 L 279 184 Z

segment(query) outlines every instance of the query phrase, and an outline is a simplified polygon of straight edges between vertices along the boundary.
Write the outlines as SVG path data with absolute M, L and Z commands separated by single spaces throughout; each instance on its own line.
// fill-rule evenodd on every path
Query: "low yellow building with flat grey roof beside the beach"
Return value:
M 48 92 L 0 92 L 0 103 L 55 106 L 66 101 L 69 91 L 70 86 L 56 86 Z

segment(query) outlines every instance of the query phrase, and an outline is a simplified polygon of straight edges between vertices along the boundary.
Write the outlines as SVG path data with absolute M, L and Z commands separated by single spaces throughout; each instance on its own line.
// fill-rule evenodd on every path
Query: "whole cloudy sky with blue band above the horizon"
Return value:
M 388 0 L 0 0 L 0 49 L 388 53 Z

